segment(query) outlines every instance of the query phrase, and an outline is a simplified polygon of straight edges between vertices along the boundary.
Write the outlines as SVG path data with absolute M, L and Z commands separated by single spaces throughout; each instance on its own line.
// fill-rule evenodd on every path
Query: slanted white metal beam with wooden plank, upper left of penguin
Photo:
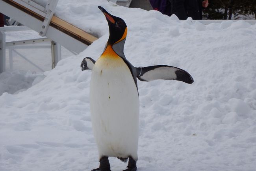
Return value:
M 78 54 L 97 38 L 54 16 L 57 3 L 48 0 L 43 7 L 32 0 L 0 0 L 0 13 Z M 4 31 L 0 30 L 0 73 L 5 70 L 5 48 Z

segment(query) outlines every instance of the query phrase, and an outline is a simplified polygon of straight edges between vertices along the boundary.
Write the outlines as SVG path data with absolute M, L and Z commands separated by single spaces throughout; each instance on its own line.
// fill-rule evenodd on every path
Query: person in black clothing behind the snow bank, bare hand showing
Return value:
M 187 17 L 193 20 L 202 20 L 202 7 L 208 7 L 208 0 L 169 0 L 171 2 L 171 14 L 175 14 L 180 20 Z

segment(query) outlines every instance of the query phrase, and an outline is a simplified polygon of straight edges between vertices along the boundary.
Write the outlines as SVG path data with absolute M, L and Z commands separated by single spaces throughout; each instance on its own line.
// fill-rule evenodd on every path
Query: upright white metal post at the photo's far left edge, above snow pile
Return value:
M 0 31 L 0 73 L 6 70 L 6 35 Z

